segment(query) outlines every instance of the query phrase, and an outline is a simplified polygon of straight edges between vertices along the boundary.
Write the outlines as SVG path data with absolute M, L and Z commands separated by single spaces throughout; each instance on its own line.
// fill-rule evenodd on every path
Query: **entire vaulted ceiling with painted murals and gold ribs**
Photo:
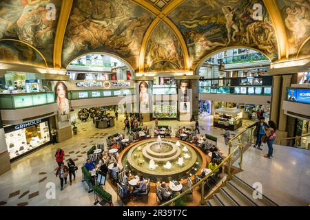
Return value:
M 66 68 L 105 52 L 135 72 L 194 70 L 229 47 L 309 57 L 308 0 L 3 0 L 0 61 Z

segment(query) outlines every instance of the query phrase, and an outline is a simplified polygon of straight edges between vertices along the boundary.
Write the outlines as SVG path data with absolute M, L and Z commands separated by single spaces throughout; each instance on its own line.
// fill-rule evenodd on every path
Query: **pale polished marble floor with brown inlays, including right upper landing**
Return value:
M 227 155 L 228 147 L 225 146 L 224 138 L 221 135 L 224 131 L 212 126 L 212 116 L 200 119 L 199 122 L 200 133 L 218 137 L 218 148 L 223 155 Z M 253 122 L 244 120 L 245 126 L 251 123 Z M 143 124 L 148 126 L 151 131 L 154 129 L 154 122 Z M 160 120 L 159 125 L 172 126 L 174 133 L 178 126 L 194 126 L 194 122 Z M 96 129 L 92 122 L 79 122 L 78 129 L 78 135 L 74 135 L 72 139 L 55 145 L 50 144 L 14 162 L 12 169 L 0 176 L 0 206 L 94 206 L 94 195 L 88 194 L 87 186 L 81 182 L 81 166 L 85 162 L 86 152 L 92 144 L 104 143 L 106 146 L 105 138 L 109 134 L 123 130 L 123 115 L 118 118 L 116 126 L 110 129 Z M 238 133 L 241 130 L 242 128 L 233 133 Z M 54 153 L 56 148 L 63 148 L 65 159 L 72 158 L 79 166 L 72 186 L 68 181 L 62 191 L 59 178 L 55 176 L 57 165 Z M 245 171 L 239 174 L 240 177 L 248 183 L 258 181 L 257 179 L 265 181 L 264 184 L 268 186 L 265 191 L 267 197 L 274 199 L 280 205 L 307 205 L 307 200 L 308 203 L 310 201 L 310 151 L 277 146 L 274 152 L 275 156 L 271 160 L 262 157 L 260 153 L 254 148 L 250 148 L 245 153 L 243 164 Z M 47 194 L 50 195 L 49 189 L 53 184 L 56 197 L 48 199 Z M 108 182 L 105 190 L 112 195 L 114 206 L 119 206 L 121 202 L 117 200 L 116 192 Z M 293 190 L 298 190 L 299 194 L 294 194 Z M 151 198 L 153 197 L 154 195 Z

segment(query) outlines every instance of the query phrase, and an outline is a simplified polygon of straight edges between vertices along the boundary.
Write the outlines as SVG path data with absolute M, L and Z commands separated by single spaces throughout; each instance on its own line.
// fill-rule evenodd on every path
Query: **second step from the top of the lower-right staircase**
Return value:
M 231 182 L 227 182 L 227 186 L 225 186 L 226 192 L 237 201 L 240 206 L 258 206 L 251 197 L 245 195 L 240 188 L 231 184 Z

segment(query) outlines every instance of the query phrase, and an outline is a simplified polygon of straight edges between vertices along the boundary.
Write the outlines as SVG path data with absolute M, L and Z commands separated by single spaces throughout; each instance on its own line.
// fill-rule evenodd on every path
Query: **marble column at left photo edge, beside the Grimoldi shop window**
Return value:
M 6 146 L 6 137 L 4 135 L 4 129 L 0 113 L 0 175 L 6 173 L 10 169 L 10 155 L 8 153 L 8 146 Z

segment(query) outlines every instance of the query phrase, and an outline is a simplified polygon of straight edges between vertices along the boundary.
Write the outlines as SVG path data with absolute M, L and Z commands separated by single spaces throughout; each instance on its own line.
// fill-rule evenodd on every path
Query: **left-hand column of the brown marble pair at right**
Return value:
M 270 120 L 278 124 L 282 76 L 273 76 Z

